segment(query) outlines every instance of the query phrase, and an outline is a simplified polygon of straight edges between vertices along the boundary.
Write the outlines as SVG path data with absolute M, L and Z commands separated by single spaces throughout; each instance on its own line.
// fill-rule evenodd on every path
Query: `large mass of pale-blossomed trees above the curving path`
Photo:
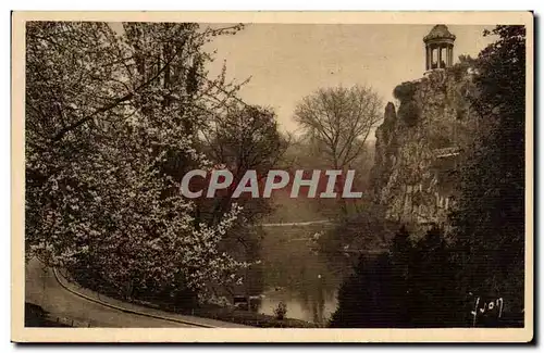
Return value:
M 33 22 L 26 31 L 28 256 L 85 269 L 131 295 L 206 297 L 248 264 L 219 244 L 240 212 L 195 222 L 172 162 L 210 168 L 207 121 L 237 87 L 210 80 L 202 46 L 238 26 Z M 174 169 L 174 171 L 173 171 Z

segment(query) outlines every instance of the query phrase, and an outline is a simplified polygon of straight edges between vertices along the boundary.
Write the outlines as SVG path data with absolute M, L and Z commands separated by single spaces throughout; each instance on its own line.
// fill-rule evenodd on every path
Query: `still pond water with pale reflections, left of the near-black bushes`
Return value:
M 286 317 L 326 323 L 336 311 L 337 290 L 349 268 L 345 260 L 331 261 L 318 253 L 308 240 L 312 235 L 308 227 L 267 232 L 261 250 L 264 290 L 258 312 L 274 315 L 283 302 Z

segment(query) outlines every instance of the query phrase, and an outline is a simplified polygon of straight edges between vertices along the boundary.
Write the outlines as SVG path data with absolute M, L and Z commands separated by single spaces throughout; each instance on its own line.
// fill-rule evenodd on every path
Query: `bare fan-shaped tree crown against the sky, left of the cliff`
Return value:
M 382 101 L 371 87 L 319 89 L 305 97 L 296 122 L 335 169 L 349 167 L 381 119 Z

